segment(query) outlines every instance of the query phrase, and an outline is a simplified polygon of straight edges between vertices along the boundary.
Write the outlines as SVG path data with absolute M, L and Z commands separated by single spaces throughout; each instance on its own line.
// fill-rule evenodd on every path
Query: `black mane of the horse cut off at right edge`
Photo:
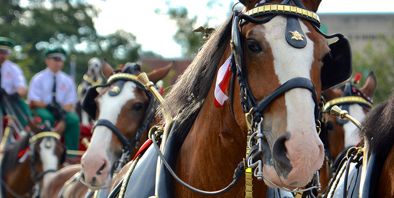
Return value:
M 384 159 L 394 142 L 394 95 L 369 111 L 362 121 L 369 152 L 375 152 Z

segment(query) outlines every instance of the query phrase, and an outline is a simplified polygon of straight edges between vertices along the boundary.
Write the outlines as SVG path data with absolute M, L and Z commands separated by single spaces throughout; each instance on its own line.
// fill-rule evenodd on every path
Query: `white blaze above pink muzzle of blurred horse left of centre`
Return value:
M 101 97 L 99 97 L 98 119 L 106 119 L 110 121 L 113 125 L 116 125 L 118 116 L 121 113 L 123 106 L 126 104 L 127 101 L 135 98 L 135 88 L 136 85 L 134 83 L 126 82 L 122 88 L 122 91 L 118 95 L 110 96 L 108 92 L 106 92 Z M 115 134 L 113 134 L 110 129 L 105 126 L 97 126 L 88 148 L 88 151 L 92 152 L 90 156 L 94 157 L 96 154 L 109 154 L 108 151 L 112 136 L 115 136 Z M 85 153 L 85 155 L 86 154 L 88 153 Z M 112 157 L 113 156 L 108 156 L 109 159 Z M 86 161 L 86 163 L 89 162 Z

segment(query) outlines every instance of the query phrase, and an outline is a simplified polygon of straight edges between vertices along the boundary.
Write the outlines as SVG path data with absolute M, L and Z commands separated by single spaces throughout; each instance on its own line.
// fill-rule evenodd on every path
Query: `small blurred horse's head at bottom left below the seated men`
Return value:
M 66 160 L 66 148 L 60 135 L 52 132 L 46 124 L 29 120 L 32 137 L 29 140 L 29 159 L 33 181 L 46 186 L 51 175 L 61 168 Z

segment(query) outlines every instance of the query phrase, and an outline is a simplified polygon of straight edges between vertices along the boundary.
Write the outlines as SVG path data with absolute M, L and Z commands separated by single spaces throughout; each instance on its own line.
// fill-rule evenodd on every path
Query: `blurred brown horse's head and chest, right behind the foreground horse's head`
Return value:
M 361 75 L 357 74 L 352 80 L 323 91 L 325 106 L 322 110 L 322 131 L 319 135 L 326 151 L 326 161 L 320 171 L 323 189 L 327 187 L 328 180 L 332 178 L 332 172 L 338 168 L 347 150 L 361 141 L 356 132 L 356 125 L 349 120 L 330 115 L 331 107 L 338 105 L 360 121 L 372 108 L 371 98 L 377 87 L 376 77 L 373 72 L 370 72 L 361 88 L 356 86 L 360 81 L 359 77 L 361 79 Z

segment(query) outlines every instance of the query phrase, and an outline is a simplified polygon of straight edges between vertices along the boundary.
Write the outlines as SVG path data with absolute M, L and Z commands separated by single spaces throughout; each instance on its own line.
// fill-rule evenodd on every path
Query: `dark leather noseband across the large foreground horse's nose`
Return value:
M 308 89 L 312 93 L 312 99 L 315 102 L 315 118 L 318 117 L 319 113 L 319 105 L 317 100 L 317 93 L 315 90 L 315 86 L 312 81 L 307 78 L 294 78 L 290 79 L 283 85 L 280 85 L 273 92 L 267 95 L 263 100 L 261 100 L 256 107 L 251 111 L 253 117 L 256 119 L 258 117 L 262 117 L 262 113 L 267 108 L 269 104 L 271 104 L 276 98 L 286 93 L 286 91 L 294 89 L 294 88 L 305 88 Z

